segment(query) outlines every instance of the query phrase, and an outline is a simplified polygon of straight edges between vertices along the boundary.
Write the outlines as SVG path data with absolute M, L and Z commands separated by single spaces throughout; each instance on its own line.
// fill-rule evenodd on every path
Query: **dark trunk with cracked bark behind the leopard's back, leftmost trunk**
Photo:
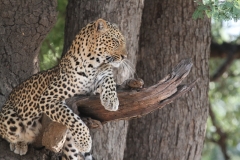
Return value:
M 17 84 L 39 70 L 39 47 L 56 21 L 56 5 L 55 0 L 0 0 L 0 108 Z M 19 156 L 0 138 L 0 159 L 42 160 L 51 154 L 29 147 L 26 156 Z

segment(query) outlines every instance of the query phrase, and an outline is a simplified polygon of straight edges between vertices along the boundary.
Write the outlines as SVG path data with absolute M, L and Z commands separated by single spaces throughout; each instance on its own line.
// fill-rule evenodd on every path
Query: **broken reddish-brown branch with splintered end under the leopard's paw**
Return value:
M 77 106 L 81 115 L 99 120 L 102 123 L 139 117 L 163 108 L 166 104 L 189 91 L 196 81 L 190 85 L 180 85 L 180 83 L 186 78 L 191 67 L 190 59 L 183 60 L 173 69 L 171 74 L 151 87 L 138 91 L 118 91 L 120 106 L 119 110 L 115 112 L 105 110 L 98 95 L 79 97 L 75 102 L 76 105 L 73 106 Z

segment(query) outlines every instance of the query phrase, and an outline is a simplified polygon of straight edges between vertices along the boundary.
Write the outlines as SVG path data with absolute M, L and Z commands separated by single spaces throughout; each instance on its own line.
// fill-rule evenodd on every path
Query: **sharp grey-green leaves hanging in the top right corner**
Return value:
M 240 19 L 240 0 L 205 0 L 195 1 L 198 4 L 193 13 L 193 19 L 203 18 L 206 14 L 214 20 Z

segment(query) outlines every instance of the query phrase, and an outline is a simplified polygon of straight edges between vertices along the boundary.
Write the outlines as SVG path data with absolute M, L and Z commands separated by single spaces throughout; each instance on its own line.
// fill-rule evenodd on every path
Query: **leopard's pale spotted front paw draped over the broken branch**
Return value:
M 118 110 L 119 101 L 116 92 L 111 92 L 109 94 L 102 94 L 101 97 L 101 104 L 104 108 L 108 111 L 116 111 Z

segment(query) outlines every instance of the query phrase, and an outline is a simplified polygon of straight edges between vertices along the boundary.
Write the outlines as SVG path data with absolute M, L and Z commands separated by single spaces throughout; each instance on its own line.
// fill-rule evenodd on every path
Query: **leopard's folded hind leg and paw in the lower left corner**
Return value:
M 3 111 L 4 112 L 4 111 Z M 16 154 L 25 155 L 28 144 L 35 140 L 41 129 L 40 118 L 23 120 L 13 109 L 1 113 L 3 127 L 2 137 L 10 142 L 10 150 Z

